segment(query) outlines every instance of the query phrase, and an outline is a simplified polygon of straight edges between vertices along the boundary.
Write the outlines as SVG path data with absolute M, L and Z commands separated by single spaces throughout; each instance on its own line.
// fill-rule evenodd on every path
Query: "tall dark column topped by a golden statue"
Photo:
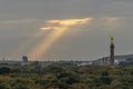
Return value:
M 111 44 L 110 44 L 110 65 L 114 66 L 114 38 L 110 37 Z

